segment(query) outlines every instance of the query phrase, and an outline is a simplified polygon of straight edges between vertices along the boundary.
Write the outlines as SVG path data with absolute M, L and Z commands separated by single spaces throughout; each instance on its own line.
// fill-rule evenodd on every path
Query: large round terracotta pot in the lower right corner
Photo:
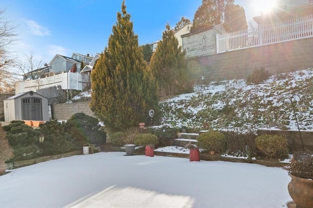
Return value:
M 299 208 L 313 208 L 313 180 L 291 176 L 289 194 Z

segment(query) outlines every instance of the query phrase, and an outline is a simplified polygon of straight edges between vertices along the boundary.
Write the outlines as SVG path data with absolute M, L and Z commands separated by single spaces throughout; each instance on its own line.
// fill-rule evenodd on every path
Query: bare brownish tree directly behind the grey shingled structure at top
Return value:
M 224 23 L 224 12 L 227 4 L 234 0 L 202 0 L 195 13 L 191 32 Z

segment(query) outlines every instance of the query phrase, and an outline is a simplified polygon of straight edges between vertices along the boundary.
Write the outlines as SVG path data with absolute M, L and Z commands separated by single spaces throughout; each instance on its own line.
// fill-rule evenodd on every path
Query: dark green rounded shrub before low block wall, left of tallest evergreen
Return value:
M 85 113 L 75 113 L 67 120 L 67 124 L 72 124 L 78 128 L 78 130 L 88 138 L 90 143 L 97 145 L 102 143 L 104 132 L 101 130 L 97 118 L 86 115 Z M 85 143 L 88 143 L 84 138 L 81 138 L 80 140 L 85 140 Z

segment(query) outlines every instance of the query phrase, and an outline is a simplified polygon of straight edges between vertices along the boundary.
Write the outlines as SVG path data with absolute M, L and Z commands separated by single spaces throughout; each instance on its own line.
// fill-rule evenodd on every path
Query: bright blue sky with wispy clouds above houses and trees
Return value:
M 235 0 L 245 8 L 247 19 L 258 15 L 260 0 Z M 266 1 L 262 0 L 263 4 Z M 20 57 L 33 52 L 48 63 L 56 54 L 70 57 L 101 53 L 107 46 L 121 11 L 122 0 L 1 0 L 4 17 L 16 25 L 19 41 L 12 50 Z M 134 22 L 139 44 L 162 37 L 167 22 L 174 27 L 185 17 L 191 21 L 201 0 L 126 0 L 127 12 Z M 254 5 L 254 6 L 253 6 Z

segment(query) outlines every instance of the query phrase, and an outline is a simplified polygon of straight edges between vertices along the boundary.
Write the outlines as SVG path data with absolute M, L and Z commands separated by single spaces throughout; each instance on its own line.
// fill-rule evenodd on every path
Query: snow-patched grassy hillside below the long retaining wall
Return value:
M 160 102 L 162 124 L 179 128 L 255 131 L 259 128 L 297 130 L 294 106 L 305 104 L 307 112 L 296 109 L 301 130 L 313 131 L 313 69 L 283 73 L 258 85 L 246 79 L 211 82 L 195 86 L 195 93 Z M 82 93 L 73 99 L 88 97 Z M 299 97 L 301 98 L 301 101 Z

